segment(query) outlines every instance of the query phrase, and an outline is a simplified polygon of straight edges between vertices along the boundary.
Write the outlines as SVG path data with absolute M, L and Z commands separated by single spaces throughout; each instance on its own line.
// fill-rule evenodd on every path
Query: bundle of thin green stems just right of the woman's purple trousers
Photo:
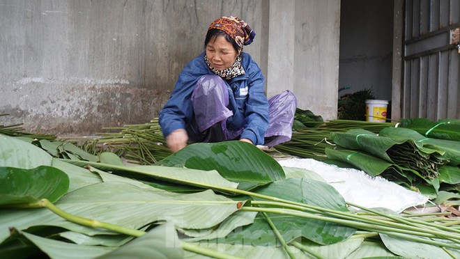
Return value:
M 318 127 L 293 128 L 291 141 L 275 146 L 275 150 L 298 157 L 323 160 L 327 158 L 325 148 L 335 146 L 335 143 L 330 139 L 332 132 L 346 132 L 360 128 L 378 133 L 384 127 L 396 125 L 396 123 L 373 123 L 361 120 L 329 120 L 317 124 Z

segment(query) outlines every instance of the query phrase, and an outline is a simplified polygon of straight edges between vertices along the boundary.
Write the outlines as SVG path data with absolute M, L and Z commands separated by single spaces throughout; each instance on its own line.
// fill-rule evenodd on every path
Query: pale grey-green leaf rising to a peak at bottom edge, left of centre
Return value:
M 153 228 L 146 235 L 137 237 L 132 242 L 121 246 L 121 248 L 101 256 L 100 259 L 167 259 L 183 257 L 184 251 L 181 249 L 181 241 L 179 241 L 174 225 L 166 223 Z

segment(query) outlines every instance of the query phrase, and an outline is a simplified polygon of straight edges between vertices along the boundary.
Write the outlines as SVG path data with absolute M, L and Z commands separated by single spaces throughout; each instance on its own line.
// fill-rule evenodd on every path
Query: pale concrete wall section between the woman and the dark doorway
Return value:
M 340 0 L 270 1 L 267 95 L 292 91 L 300 109 L 337 118 Z

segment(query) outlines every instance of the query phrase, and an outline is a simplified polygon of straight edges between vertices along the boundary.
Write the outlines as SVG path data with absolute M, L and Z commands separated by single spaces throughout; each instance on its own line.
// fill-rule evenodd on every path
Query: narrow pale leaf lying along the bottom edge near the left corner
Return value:
M 22 235 L 33 242 L 38 248 L 45 252 L 50 258 L 95 258 L 109 253 L 113 248 L 105 246 L 82 246 L 57 240 L 50 240 L 23 232 Z

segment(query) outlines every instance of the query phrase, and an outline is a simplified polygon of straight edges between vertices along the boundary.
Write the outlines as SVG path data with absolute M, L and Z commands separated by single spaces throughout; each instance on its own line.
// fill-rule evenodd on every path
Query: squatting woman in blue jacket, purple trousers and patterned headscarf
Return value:
M 160 126 L 171 152 L 181 150 L 189 140 L 239 139 L 274 146 L 290 139 L 296 99 L 286 91 L 270 99 L 269 105 L 259 66 L 242 52 L 254 36 L 238 17 L 220 17 L 210 24 L 205 52 L 183 68 L 160 111 Z M 272 123 L 270 119 L 277 117 L 284 120 Z

